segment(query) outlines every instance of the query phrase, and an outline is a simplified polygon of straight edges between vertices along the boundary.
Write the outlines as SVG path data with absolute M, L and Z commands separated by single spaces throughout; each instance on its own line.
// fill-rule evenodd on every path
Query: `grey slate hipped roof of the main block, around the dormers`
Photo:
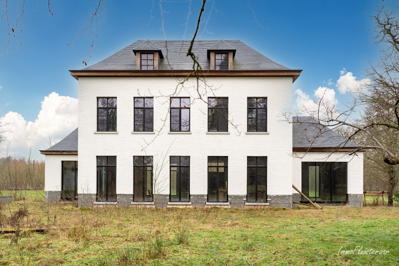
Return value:
M 135 70 L 136 56 L 133 49 L 137 47 L 153 47 L 152 44 L 162 50 L 164 59 L 160 60 L 159 70 L 191 70 L 193 61 L 186 56 L 190 41 L 164 41 L 164 40 L 140 40 L 124 47 L 106 59 L 84 68 L 83 70 Z M 230 45 L 236 49 L 233 60 L 234 70 L 288 70 L 279 63 L 255 51 L 239 40 L 198 40 L 194 41 L 192 51 L 198 58 L 203 69 L 210 69 L 207 50 L 209 47 L 226 47 Z M 167 49 L 166 49 L 167 47 Z M 169 65 L 170 64 L 170 65 Z

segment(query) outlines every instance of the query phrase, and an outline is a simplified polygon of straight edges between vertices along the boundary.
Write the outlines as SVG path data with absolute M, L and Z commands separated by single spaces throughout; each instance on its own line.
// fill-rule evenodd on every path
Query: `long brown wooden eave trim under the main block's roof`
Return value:
M 71 75 L 79 77 L 186 77 L 192 70 L 69 70 Z M 292 83 L 302 70 L 204 70 L 205 77 L 292 77 Z

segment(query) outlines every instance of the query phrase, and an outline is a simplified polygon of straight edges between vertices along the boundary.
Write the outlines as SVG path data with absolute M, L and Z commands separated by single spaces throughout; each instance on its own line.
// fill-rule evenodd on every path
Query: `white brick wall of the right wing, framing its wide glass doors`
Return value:
M 336 152 L 296 152 L 300 158 L 292 158 L 292 183 L 302 188 L 302 162 L 348 162 L 348 194 L 363 194 L 363 152 L 347 156 Z M 306 155 L 305 155 L 306 154 Z M 292 189 L 292 193 L 298 193 Z

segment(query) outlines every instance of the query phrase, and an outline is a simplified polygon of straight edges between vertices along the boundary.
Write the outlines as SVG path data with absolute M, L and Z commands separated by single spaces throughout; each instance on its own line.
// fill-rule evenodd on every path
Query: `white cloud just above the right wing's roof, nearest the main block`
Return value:
M 318 112 L 318 102 L 320 100 L 322 101 L 320 112 L 323 115 L 334 112 L 335 106 L 338 104 L 338 100 L 335 98 L 334 89 L 326 87 L 318 87 L 318 89 L 314 91 L 315 99 L 311 99 L 310 96 L 304 93 L 301 89 L 297 89 L 295 94 L 298 95 L 295 100 L 295 107 L 300 114 Z

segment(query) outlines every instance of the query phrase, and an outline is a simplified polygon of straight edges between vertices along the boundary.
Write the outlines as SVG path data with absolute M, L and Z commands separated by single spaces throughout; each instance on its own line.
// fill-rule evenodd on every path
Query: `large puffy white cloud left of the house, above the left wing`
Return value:
M 10 155 L 28 156 L 31 147 L 32 154 L 38 154 L 46 148 L 49 136 L 61 140 L 77 127 L 77 106 L 77 99 L 53 92 L 44 97 L 35 121 L 27 122 L 21 114 L 8 112 L 2 119 L 8 124 L 5 137 L 11 142 Z

